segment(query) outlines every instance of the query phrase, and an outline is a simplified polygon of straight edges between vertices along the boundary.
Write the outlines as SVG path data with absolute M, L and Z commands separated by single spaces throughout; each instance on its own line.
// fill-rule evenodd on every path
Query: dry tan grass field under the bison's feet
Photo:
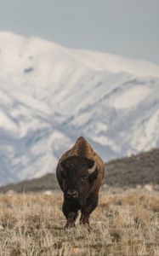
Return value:
M 62 193 L 0 195 L 0 255 L 159 255 L 159 192 L 100 192 L 92 230 L 64 230 Z

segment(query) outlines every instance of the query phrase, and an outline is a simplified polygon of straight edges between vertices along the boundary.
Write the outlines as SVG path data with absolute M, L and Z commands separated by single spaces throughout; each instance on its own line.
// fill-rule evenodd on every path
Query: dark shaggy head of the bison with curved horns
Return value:
M 65 199 L 72 212 L 84 206 L 89 190 L 97 178 L 98 169 L 94 160 L 71 156 L 60 163 Z

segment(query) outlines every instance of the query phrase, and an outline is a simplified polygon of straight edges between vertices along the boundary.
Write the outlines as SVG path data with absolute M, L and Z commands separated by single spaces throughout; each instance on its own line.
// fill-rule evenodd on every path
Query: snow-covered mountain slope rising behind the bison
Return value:
M 0 32 L 0 185 L 54 172 L 84 136 L 105 161 L 159 147 L 159 67 Z

